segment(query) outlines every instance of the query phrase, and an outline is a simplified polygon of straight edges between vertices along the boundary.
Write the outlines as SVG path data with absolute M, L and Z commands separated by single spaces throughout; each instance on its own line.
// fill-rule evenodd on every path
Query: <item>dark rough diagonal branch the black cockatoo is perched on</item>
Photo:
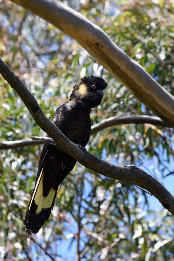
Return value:
M 32 96 L 23 82 L 1 59 L 0 73 L 18 93 L 35 122 L 56 142 L 59 147 L 61 147 L 61 150 L 75 158 L 79 163 L 90 170 L 98 172 L 106 177 L 119 179 L 148 190 L 161 202 L 164 208 L 168 209 L 168 211 L 174 215 L 174 197 L 157 179 L 134 165 L 113 165 L 81 150 L 44 115 L 34 96 Z

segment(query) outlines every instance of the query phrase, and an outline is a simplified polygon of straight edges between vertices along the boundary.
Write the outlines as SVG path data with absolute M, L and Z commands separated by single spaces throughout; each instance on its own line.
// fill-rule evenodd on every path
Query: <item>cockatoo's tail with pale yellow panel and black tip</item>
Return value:
M 46 222 L 54 205 L 57 190 L 51 188 L 48 195 L 43 195 L 44 168 L 41 169 L 27 208 L 24 225 L 32 233 L 37 233 Z

